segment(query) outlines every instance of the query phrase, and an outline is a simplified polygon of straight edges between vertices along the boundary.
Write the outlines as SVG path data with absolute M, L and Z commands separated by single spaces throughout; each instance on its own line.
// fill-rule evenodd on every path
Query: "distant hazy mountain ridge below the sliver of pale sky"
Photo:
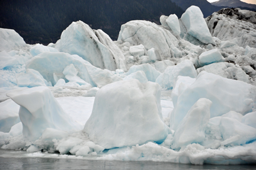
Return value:
M 247 4 L 245 2 L 242 2 L 240 0 L 220 0 L 220 1 L 216 1 L 216 2 L 212 2 L 212 5 L 215 6 L 226 6 L 226 7 L 232 7 L 232 8 L 236 8 L 236 7 L 247 7 L 247 8 L 251 8 L 256 10 L 256 5 L 254 4 Z

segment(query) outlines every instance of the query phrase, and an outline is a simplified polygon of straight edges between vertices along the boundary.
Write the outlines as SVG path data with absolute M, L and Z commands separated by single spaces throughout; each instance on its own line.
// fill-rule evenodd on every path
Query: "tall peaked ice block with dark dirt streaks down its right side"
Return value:
M 55 47 L 60 52 L 77 54 L 101 69 L 126 69 L 123 53 L 110 37 L 102 30 L 92 30 L 82 21 L 69 25 Z

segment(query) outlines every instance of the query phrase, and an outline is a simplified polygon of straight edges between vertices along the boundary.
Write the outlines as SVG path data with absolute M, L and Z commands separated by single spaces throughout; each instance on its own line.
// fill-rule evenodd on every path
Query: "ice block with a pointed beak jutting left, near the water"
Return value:
M 46 128 L 66 131 L 79 129 L 79 124 L 65 114 L 49 88 L 39 86 L 7 95 L 20 105 L 23 135 L 30 140 L 38 139 Z

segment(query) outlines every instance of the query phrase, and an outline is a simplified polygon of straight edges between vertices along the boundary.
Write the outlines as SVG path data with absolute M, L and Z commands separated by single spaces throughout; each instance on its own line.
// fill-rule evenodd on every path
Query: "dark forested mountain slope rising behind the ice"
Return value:
M 148 20 L 183 9 L 169 0 L 0 0 L 0 27 L 17 31 L 26 43 L 55 43 L 72 21 L 84 21 L 117 39 L 121 24 Z

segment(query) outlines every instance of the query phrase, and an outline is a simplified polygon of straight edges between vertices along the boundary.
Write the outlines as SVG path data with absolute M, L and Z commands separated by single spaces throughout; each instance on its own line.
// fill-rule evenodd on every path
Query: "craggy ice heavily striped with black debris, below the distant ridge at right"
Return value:
M 247 13 L 251 13 L 249 14 L 250 17 L 244 17 L 240 11 L 247 10 L 223 8 L 207 17 L 206 23 L 210 33 L 220 40 L 237 39 L 239 46 L 255 48 L 255 23 L 252 23 L 249 19 L 250 17 L 254 17 L 255 12 L 247 11 Z

